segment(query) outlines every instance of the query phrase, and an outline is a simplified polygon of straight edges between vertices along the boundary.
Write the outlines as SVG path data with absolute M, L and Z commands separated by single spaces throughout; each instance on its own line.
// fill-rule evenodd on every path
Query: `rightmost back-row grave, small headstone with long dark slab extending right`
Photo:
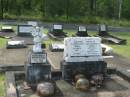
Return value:
M 108 27 L 105 24 L 101 24 L 98 27 L 99 29 L 99 36 L 102 38 L 102 41 L 104 43 L 110 43 L 110 44 L 126 44 L 125 39 L 121 39 L 115 36 L 112 36 L 108 33 Z

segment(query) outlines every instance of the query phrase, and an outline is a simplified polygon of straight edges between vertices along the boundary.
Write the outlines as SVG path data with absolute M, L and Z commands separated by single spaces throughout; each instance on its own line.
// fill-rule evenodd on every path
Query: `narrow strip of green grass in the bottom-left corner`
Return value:
M 5 97 L 5 75 L 0 73 L 0 97 Z

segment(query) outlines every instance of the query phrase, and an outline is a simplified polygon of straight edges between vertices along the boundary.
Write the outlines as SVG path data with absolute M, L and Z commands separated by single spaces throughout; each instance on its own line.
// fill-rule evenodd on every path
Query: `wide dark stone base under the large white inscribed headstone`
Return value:
M 75 75 L 83 74 L 88 79 L 94 74 L 107 72 L 107 63 L 104 61 L 92 62 L 61 62 L 62 77 L 64 80 L 72 80 Z

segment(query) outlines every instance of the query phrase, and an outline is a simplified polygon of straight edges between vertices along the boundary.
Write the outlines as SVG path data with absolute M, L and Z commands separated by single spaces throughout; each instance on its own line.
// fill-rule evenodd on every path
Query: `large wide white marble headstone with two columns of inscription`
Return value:
M 66 62 L 101 61 L 101 39 L 98 37 L 69 37 L 64 39 Z

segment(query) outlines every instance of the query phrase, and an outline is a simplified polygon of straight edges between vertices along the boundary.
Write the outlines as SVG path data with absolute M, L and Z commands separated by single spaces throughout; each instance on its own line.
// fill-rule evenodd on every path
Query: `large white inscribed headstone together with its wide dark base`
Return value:
M 100 76 L 100 74 L 100 78 L 105 76 L 107 64 L 103 61 L 100 38 L 70 37 L 65 38 L 64 44 L 64 61 L 61 62 L 61 71 L 65 80 L 78 82 L 76 76 L 82 75 L 85 81 L 91 84 L 90 80 L 93 76 Z M 75 77 L 76 79 L 73 79 Z

